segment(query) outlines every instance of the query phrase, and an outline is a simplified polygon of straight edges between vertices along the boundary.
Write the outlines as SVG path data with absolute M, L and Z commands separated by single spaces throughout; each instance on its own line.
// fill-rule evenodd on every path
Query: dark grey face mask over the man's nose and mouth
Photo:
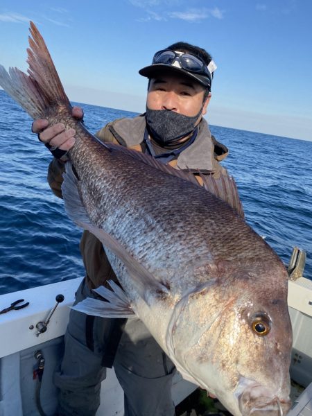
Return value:
M 159 144 L 175 144 L 193 132 L 202 107 L 196 116 L 184 116 L 171 110 L 150 110 L 146 107 L 145 117 L 150 135 Z

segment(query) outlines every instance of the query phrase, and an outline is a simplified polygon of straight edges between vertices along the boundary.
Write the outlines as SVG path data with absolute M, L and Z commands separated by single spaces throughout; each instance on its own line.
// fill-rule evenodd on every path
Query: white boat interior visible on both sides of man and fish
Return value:
M 42 407 L 47 415 L 56 408 L 55 388 L 51 380 L 60 357 L 62 335 L 67 327 L 69 306 L 80 279 L 62 281 L 0 295 L 0 310 L 18 299 L 30 304 L 25 309 L 0 315 L 0 416 L 38 416 L 35 405 L 36 380 L 33 380 L 34 353 L 38 349 L 46 358 L 42 379 Z M 37 322 L 46 320 L 55 305 L 55 296 L 64 295 L 47 330 L 36 336 Z M 289 416 L 312 416 L 312 281 L 300 278 L 289 281 L 288 306 L 293 324 L 293 354 L 291 376 L 306 387 L 293 395 L 293 408 Z M 175 404 L 187 397 L 196 386 L 177 374 L 173 385 Z M 114 370 L 107 371 L 101 390 L 101 406 L 97 415 L 122 416 L 123 392 Z

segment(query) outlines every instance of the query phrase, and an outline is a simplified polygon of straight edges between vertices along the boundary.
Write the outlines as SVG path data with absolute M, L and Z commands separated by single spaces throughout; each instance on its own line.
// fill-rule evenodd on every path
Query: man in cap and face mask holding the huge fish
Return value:
M 211 137 L 202 119 L 211 98 L 214 69 L 211 56 L 198 46 L 179 42 L 157 52 L 153 63 L 139 71 L 148 78 L 146 113 L 112 121 L 96 136 L 147 153 L 175 168 L 190 169 L 198 182 L 202 182 L 199 172 L 220 177 L 225 169 L 218 162 L 226 157 L 227 148 Z M 81 118 L 83 113 L 74 107 L 73 115 Z M 33 132 L 40 133 L 40 141 L 54 155 L 48 180 L 55 195 L 62 197 L 64 161 L 75 143 L 75 131 L 65 131 L 62 123 L 48 126 L 48 121 L 37 120 Z M 85 231 L 80 250 L 86 276 L 76 303 L 88 296 L 97 297 L 92 288 L 105 285 L 108 279 L 116 281 L 96 237 Z M 125 393 L 126 416 L 174 415 L 174 365 L 140 320 L 125 322 L 71 311 L 64 339 L 64 357 L 55 373 L 60 415 L 95 415 L 105 368 L 112 365 Z

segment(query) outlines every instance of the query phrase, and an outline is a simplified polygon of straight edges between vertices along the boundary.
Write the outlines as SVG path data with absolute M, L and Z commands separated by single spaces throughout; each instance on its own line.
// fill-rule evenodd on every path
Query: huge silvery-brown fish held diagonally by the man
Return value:
M 204 178 L 200 187 L 189 173 L 90 135 L 71 116 L 32 23 L 29 42 L 28 75 L 0 67 L 0 85 L 34 119 L 76 130 L 62 186 L 67 214 L 103 241 L 122 286 L 99 289 L 110 302 L 87 300 L 80 310 L 136 314 L 182 376 L 233 415 L 286 413 L 292 335 L 277 254 L 214 196 L 218 183 Z M 232 180 L 221 182 L 241 211 Z

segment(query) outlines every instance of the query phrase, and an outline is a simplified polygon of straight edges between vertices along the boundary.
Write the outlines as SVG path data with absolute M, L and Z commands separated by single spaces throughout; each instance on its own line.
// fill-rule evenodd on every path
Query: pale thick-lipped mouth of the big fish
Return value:
M 285 416 L 291 408 L 291 399 L 281 399 L 277 395 L 270 395 L 268 388 L 263 385 L 249 385 L 239 395 L 239 409 L 243 416 Z

